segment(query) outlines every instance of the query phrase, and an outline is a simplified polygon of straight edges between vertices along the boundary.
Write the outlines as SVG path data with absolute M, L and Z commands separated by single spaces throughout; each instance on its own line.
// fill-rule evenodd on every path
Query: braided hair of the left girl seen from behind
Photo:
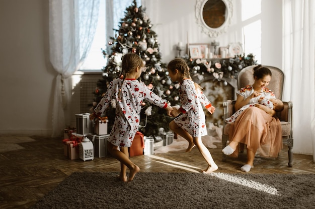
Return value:
M 124 84 L 125 77 L 128 73 L 134 71 L 137 67 L 141 68 L 144 67 L 143 60 L 139 55 L 136 55 L 134 53 L 128 53 L 125 54 L 122 57 L 122 62 L 121 62 L 121 73 L 119 75 L 119 78 L 122 78 L 122 83 L 118 92 L 118 98 L 121 99 L 120 94 L 121 94 L 121 88 L 122 85 Z

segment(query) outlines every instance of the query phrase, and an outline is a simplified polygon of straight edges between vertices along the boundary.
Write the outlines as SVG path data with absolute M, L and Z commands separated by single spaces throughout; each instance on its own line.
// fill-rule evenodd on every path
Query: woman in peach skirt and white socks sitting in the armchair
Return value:
M 241 88 L 237 92 L 235 111 L 243 106 L 258 103 L 261 98 L 275 99 L 274 93 L 268 86 L 271 80 L 271 71 L 261 65 L 254 69 L 254 84 Z M 229 144 L 222 149 L 226 155 L 238 156 L 238 145 L 247 145 L 247 162 L 241 167 L 244 172 L 249 172 L 254 167 L 255 154 L 259 153 L 266 157 L 277 157 L 282 149 L 282 129 L 280 120 L 275 111 L 263 105 L 255 105 L 245 109 L 235 122 L 231 123 L 229 129 Z M 271 110 L 271 109 L 269 109 Z

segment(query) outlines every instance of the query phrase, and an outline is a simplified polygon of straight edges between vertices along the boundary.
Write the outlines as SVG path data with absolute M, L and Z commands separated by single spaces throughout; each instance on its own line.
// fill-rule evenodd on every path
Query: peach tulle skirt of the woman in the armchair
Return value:
M 256 154 L 277 157 L 282 149 L 280 120 L 257 107 L 246 109 L 229 129 L 229 141 L 244 143 Z M 237 157 L 239 149 L 231 155 Z

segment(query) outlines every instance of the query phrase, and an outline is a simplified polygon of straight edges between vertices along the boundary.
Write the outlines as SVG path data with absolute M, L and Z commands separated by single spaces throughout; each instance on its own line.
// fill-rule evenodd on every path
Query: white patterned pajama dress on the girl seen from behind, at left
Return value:
M 122 79 L 117 78 L 110 83 L 107 92 L 94 111 L 100 115 L 109 106 L 111 100 L 115 99 L 116 117 L 108 141 L 115 146 L 130 147 L 139 129 L 143 100 L 146 99 L 149 103 L 161 108 L 166 108 L 168 104 L 136 79 L 125 79 L 123 85 L 122 82 Z

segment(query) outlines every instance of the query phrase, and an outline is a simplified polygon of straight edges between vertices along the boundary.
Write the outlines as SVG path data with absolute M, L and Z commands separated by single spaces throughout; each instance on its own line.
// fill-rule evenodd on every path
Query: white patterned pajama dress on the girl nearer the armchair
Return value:
M 174 119 L 174 122 L 193 137 L 207 135 L 206 119 L 202 105 L 205 108 L 211 107 L 211 102 L 202 91 L 196 91 L 192 80 L 185 79 L 180 90 L 180 111 L 183 113 Z

